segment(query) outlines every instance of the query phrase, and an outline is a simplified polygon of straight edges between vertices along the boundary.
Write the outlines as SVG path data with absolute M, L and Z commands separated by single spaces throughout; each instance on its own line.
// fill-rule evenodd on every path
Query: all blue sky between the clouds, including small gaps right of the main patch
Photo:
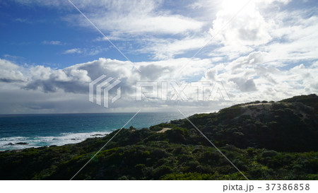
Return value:
M 167 9 L 172 14 L 179 14 L 184 13 L 184 10 L 178 10 L 182 5 L 180 2 L 167 1 L 160 4 L 160 8 Z M 76 15 L 78 19 L 83 19 L 81 18 L 83 16 L 79 15 L 71 4 L 52 7 L 45 3 L 41 4 L 40 1 L 30 1 L 30 3 L 8 1 L 2 2 L 0 8 L 0 25 L 6 29 L 1 32 L 0 54 L 2 57 L 9 59 L 17 57 L 21 62 L 58 69 L 92 61 L 99 57 L 125 60 L 110 42 L 100 41 L 102 35 L 88 21 L 81 21 L 85 23 L 84 25 L 88 25 L 86 28 L 78 26 L 81 24 L 76 21 L 68 21 L 67 17 L 73 15 Z M 84 13 L 85 10 L 84 7 Z M 87 12 L 89 14 L 90 10 Z M 192 14 L 185 15 L 191 16 Z M 108 36 L 113 31 L 106 29 L 103 30 L 103 33 Z M 132 62 L 155 60 L 151 53 L 134 52 L 133 50 L 143 47 L 143 43 L 140 41 L 146 41 L 147 36 L 152 37 L 154 34 L 140 34 L 138 35 L 139 40 L 135 39 L 135 35 L 130 34 L 129 36 L 132 37 L 119 40 L 114 38 L 112 42 L 120 47 Z M 155 36 L 180 40 L 179 37 L 183 35 L 159 33 Z M 69 52 L 67 52 L 68 50 Z M 192 50 L 186 54 L 179 54 L 177 57 L 189 57 L 195 52 L 196 50 Z

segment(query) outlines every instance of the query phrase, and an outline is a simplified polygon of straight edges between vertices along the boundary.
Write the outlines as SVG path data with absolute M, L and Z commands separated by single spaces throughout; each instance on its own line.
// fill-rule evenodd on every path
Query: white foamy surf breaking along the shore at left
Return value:
M 0 151 L 31 148 L 40 146 L 62 146 L 65 144 L 76 144 L 88 138 L 102 137 L 110 134 L 111 131 L 95 131 L 88 133 L 62 133 L 60 136 L 13 136 L 0 138 Z M 27 143 L 26 145 L 19 145 L 17 143 Z M 14 145 L 10 145 L 14 144 Z

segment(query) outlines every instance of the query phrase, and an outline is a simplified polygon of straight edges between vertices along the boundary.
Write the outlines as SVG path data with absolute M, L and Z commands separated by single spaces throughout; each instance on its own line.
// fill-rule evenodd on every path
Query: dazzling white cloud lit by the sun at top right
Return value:
M 257 10 L 255 4 L 249 3 L 240 13 L 237 10 L 245 5 L 245 1 L 225 1 L 223 8 L 216 13 L 211 35 L 229 47 L 230 50 L 245 53 L 249 46 L 264 45 L 272 37 L 269 34 L 271 24 Z M 233 20 L 231 20 L 235 16 Z M 230 21 L 230 23 L 229 23 Z M 224 49 L 221 52 L 224 52 Z

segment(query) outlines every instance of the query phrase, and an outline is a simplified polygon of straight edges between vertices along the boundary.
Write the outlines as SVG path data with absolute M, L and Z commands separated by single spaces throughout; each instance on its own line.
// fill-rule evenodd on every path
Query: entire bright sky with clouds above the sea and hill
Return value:
M 317 6 L 315 0 L 1 1 L 0 114 L 213 112 L 317 94 Z M 109 107 L 88 100 L 89 83 L 103 74 L 121 81 L 121 97 Z M 158 84 L 158 95 L 145 87 L 136 101 L 140 82 Z M 160 97 L 164 83 L 167 100 Z

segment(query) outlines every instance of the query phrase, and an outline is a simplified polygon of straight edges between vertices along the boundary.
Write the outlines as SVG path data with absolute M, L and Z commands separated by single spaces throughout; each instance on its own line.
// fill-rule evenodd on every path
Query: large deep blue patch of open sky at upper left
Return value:
M 2 57 L 19 57 L 28 64 L 58 69 L 98 57 L 124 59 L 109 42 L 94 41 L 101 36 L 95 29 L 78 28 L 63 21 L 66 14 L 77 13 L 74 9 L 60 11 L 47 6 L 23 6 L 10 2 L 2 5 L 0 12 L 1 26 L 6 29 L 1 31 Z M 64 54 L 74 48 L 87 49 L 88 53 Z M 89 53 L 98 49 L 101 49 L 99 53 Z

